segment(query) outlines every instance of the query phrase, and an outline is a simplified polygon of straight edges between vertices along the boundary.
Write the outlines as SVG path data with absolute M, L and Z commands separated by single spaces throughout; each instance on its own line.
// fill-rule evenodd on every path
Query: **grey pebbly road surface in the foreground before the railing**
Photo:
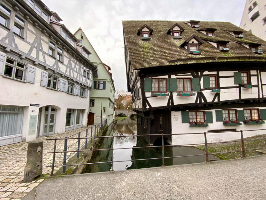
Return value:
M 45 179 L 23 200 L 265 200 L 266 155 Z

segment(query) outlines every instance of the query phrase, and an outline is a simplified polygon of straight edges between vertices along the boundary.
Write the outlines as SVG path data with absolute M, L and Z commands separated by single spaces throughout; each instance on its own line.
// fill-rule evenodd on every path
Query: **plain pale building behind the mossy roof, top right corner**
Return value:
M 246 0 L 240 28 L 266 40 L 266 1 Z M 245 37 L 244 37 L 245 39 Z

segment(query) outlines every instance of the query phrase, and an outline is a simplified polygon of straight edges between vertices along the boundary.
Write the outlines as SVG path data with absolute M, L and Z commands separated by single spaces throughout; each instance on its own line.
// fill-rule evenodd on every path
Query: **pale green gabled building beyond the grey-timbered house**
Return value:
M 115 103 L 115 86 L 111 68 L 101 61 L 81 28 L 74 33 L 74 36 L 79 40 L 79 45 L 83 45 L 91 52 L 90 61 L 97 66 L 97 70 L 93 73 L 93 87 L 90 91 L 88 124 L 98 124 L 107 119 L 109 125 L 113 122 Z

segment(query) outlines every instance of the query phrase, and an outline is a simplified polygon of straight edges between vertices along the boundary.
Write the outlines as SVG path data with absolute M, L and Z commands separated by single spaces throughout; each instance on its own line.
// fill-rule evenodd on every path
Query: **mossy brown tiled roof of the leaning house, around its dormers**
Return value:
M 222 62 L 222 61 L 264 61 L 266 57 L 266 42 L 255 35 L 231 24 L 230 22 L 199 22 L 199 29 L 217 29 L 214 33 L 215 37 L 208 37 L 197 28 L 192 28 L 184 22 L 177 21 L 123 21 L 123 29 L 125 39 L 129 51 L 132 69 L 141 69 L 155 66 L 169 66 L 189 63 L 205 63 L 205 62 Z M 173 39 L 171 34 L 167 34 L 168 30 L 174 25 L 179 24 L 183 29 L 182 39 Z M 150 40 L 142 40 L 137 35 L 138 30 L 143 25 L 153 29 Z M 243 32 L 244 38 L 238 39 L 230 32 Z M 185 48 L 180 47 L 186 39 L 195 34 L 204 43 L 200 45 L 200 55 L 192 55 Z M 227 47 L 229 52 L 221 52 L 208 41 L 229 41 Z M 263 50 L 262 55 L 253 53 L 251 50 L 241 45 L 244 44 L 261 44 L 259 50 Z M 245 56 L 245 57 L 242 57 Z M 250 57 L 251 56 L 251 57 Z M 260 57 L 262 59 L 257 60 Z M 191 59 L 190 59 L 191 58 Z M 196 58 L 196 59 L 194 59 Z M 188 59 L 190 59 L 188 61 Z M 170 62 L 169 62 L 170 61 Z M 266 60 L 265 60 L 266 61 Z

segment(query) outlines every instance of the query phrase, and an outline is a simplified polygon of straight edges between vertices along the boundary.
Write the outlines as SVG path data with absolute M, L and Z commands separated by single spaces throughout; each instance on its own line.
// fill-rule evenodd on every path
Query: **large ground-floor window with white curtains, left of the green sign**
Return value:
M 22 134 L 24 107 L 0 106 L 0 137 Z

